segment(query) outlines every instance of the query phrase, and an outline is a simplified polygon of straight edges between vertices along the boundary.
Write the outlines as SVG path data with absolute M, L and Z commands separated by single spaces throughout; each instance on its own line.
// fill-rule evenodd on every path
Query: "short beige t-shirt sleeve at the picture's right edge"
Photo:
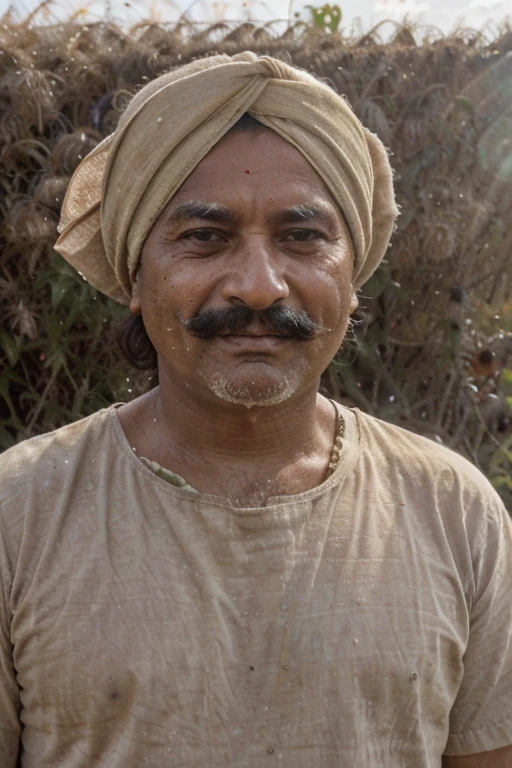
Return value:
M 462 683 L 450 713 L 446 755 L 512 744 L 512 521 L 489 489 L 473 514 L 474 591 Z

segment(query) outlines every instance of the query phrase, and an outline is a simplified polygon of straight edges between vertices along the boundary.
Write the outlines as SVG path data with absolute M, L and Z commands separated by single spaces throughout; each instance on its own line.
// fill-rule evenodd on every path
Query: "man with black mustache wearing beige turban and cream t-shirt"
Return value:
M 159 387 L 3 457 L 2 766 L 512 765 L 505 510 L 318 394 L 395 214 L 344 101 L 249 53 L 80 166 L 57 247 Z

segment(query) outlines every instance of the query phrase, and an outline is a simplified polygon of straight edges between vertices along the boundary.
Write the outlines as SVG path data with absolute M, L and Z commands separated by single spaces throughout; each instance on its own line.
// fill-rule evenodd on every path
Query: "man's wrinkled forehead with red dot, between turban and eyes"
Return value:
M 278 133 L 256 121 L 248 124 L 250 129 L 229 131 L 212 147 L 163 207 L 157 223 L 170 217 L 225 224 L 317 222 L 341 226 L 349 237 L 343 211 L 321 174 Z

